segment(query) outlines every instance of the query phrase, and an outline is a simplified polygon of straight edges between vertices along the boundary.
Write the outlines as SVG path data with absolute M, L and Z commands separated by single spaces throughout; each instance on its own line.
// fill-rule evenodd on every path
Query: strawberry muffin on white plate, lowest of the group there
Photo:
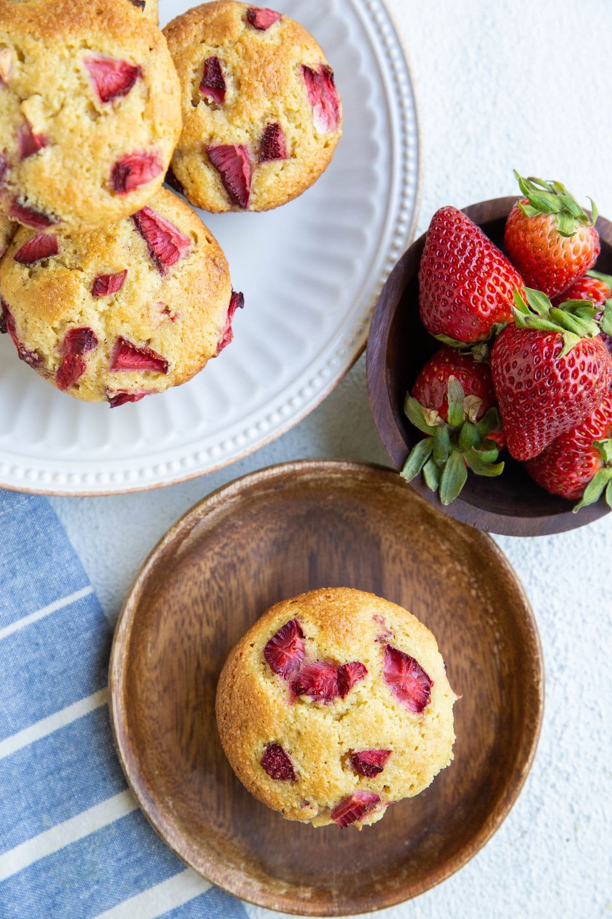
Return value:
M 18 356 L 59 390 L 111 407 L 191 379 L 231 341 L 243 302 L 212 233 L 165 188 L 96 233 L 22 227 L 0 291 Z

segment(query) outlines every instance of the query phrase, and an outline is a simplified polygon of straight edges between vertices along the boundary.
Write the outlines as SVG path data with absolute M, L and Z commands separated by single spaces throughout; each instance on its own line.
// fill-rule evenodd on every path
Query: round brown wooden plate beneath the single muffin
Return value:
M 289 823 L 252 798 L 215 721 L 240 636 L 277 600 L 329 585 L 414 612 L 463 695 L 454 762 L 362 833 Z M 393 471 L 306 460 L 227 485 L 161 539 L 117 624 L 110 696 L 128 783 L 179 857 L 260 906 L 344 915 L 427 891 L 495 833 L 535 753 L 543 673 L 529 602 L 492 539 Z

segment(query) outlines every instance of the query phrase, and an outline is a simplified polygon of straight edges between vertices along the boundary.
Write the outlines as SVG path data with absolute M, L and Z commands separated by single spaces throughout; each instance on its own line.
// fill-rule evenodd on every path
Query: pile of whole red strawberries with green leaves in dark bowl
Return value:
M 448 505 L 499 454 L 552 494 L 612 506 L 612 278 L 594 270 L 597 212 L 560 182 L 517 176 L 506 255 L 461 210 L 434 214 L 419 311 L 442 347 L 406 394 L 425 437 L 402 474 Z

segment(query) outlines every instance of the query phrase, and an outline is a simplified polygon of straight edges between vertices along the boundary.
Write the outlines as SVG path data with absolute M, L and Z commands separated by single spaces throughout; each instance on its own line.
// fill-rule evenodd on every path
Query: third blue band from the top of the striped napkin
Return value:
M 0 759 L 0 854 L 125 788 L 104 706 Z

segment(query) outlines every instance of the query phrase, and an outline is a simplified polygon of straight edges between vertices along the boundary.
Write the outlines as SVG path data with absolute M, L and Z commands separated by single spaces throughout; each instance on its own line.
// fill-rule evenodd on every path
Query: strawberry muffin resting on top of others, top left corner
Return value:
M 129 3 L 0 0 L 0 210 L 89 233 L 161 187 L 181 131 L 163 36 Z

